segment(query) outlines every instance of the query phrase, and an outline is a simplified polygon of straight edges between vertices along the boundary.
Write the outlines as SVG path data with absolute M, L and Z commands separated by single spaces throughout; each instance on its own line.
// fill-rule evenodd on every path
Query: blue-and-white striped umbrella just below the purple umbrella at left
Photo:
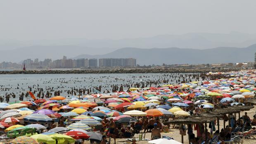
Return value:
M 24 118 L 25 122 L 31 122 L 31 123 L 51 123 L 52 119 L 49 116 L 33 113 Z

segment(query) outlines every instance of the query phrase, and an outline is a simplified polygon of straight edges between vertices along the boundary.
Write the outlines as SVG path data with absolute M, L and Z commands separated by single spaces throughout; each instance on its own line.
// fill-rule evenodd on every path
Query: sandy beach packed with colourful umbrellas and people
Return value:
M 256 71 L 185 75 L 193 81 L 180 75 L 176 80 L 171 80 L 171 75 L 164 76 L 159 81 L 111 85 L 111 92 L 102 92 L 100 87 L 94 87 L 96 91 L 55 89 L 42 97 L 40 92 L 45 89 L 38 85 L 33 91 L 35 84 L 28 87 L 26 96 L 20 95 L 20 101 L 8 104 L 6 100 L 13 96 L 5 95 L 0 103 L 0 141 L 4 144 L 256 142 L 253 106 Z M 160 81 L 164 84 L 160 85 Z M 162 137 L 165 142 L 161 143 Z

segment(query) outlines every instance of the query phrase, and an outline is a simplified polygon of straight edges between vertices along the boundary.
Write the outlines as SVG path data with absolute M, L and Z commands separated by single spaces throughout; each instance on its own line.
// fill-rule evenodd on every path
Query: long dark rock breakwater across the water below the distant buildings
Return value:
M 181 69 L 181 68 L 131 68 L 131 69 L 86 69 L 86 70 L 28 70 L 28 71 L 0 71 L 4 74 L 98 74 L 98 73 L 209 73 L 239 71 L 229 69 Z

